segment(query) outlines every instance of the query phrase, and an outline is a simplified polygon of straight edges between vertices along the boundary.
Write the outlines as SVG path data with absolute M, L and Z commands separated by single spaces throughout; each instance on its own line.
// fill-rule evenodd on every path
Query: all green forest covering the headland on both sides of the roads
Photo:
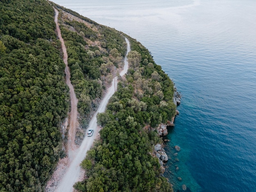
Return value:
M 60 126 L 70 101 L 53 6 L 83 132 L 124 63 L 120 31 L 45 0 L 0 2 L 0 192 L 43 191 L 65 156 Z M 87 177 L 75 184 L 79 191 L 172 191 L 151 155 L 161 138 L 146 127 L 175 115 L 173 82 L 144 46 L 129 40 L 130 69 L 119 77 L 106 113 L 98 114 L 103 129 L 81 163 Z

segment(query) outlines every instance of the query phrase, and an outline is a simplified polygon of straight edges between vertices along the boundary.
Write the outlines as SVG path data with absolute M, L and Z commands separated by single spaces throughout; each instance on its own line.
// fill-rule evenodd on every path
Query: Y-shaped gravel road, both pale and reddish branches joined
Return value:
M 73 189 L 73 185 L 76 181 L 79 180 L 79 176 L 81 174 L 81 167 L 80 167 L 80 163 L 81 161 L 83 161 L 83 159 L 86 156 L 86 153 L 88 150 L 90 150 L 90 148 L 92 147 L 92 144 L 94 142 L 94 139 L 97 137 L 97 135 L 99 134 L 99 130 L 97 127 L 97 113 L 101 113 L 104 112 L 106 110 L 106 106 L 108 104 L 108 100 L 110 99 L 110 97 L 115 93 L 115 90 L 117 89 L 117 80 L 115 80 L 117 77 L 115 77 L 112 80 L 112 84 L 111 87 L 108 88 L 106 95 L 104 96 L 104 98 L 101 101 L 101 104 L 99 105 L 99 108 L 97 110 L 97 112 L 94 114 L 94 116 L 92 117 L 92 120 L 90 121 L 89 127 L 88 129 L 94 129 L 94 133 L 92 136 L 88 137 L 85 136 L 85 138 L 83 139 L 83 142 L 81 144 L 81 146 L 76 149 L 76 147 L 74 147 L 74 136 L 75 136 L 75 126 L 76 126 L 76 116 L 77 116 L 77 99 L 74 93 L 74 88 L 70 82 L 70 71 L 69 68 L 67 66 L 67 51 L 66 51 L 66 47 L 64 45 L 64 41 L 61 37 L 61 32 L 60 29 L 58 27 L 58 11 L 55 9 L 56 12 L 56 16 L 55 16 L 55 22 L 56 22 L 56 26 L 57 26 L 57 31 L 58 31 L 58 36 L 61 40 L 61 44 L 62 44 L 62 48 L 63 48 L 63 53 L 64 53 L 64 63 L 66 64 L 66 83 L 67 85 L 70 87 L 70 99 L 71 99 L 71 111 L 70 111 L 70 118 L 75 118 L 75 121 L 72 123 L 72 121 L 70 120 L 70 125 L 74 126 L 74 130 L 70 129 L 69 132 L 69 136 L 71 135 L 71 138 L 69 139 L 68 145 L 70 145 L 68 147 L 69 150 L 69 159 L 70 159 L 70 166 L 67 168 L 67 171 L 65 172 L 65 174 L 63 175 L 63 177 L 61 178 L 60 183 L 57 186 L 56 192 L 72 192 Z M 120 72 L 120 76 L 124 76 L 124 74 L 126 74 L 127 70 L 128 70 L 128 59 L 127 59 L 127 54 L 130 51 L 130 42 L 128 41 L 128 39 L 126 38 L 126 43 L 127 43 L 127 53 L 126 53 L 126 57 L 124 59 L 124 69 Z M 72 91 L 71 91 L 72 89 Z M 72 101 L 73 100 L 73 101 Z M 72 103 L 73 102 L 73 103 Z M 73 108 L 72 108 L 73 106 Z

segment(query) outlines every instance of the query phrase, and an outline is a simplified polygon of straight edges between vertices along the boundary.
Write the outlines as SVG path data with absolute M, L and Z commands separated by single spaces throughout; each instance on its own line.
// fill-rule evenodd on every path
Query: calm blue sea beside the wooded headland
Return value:
M 175 191 L 256 192 L 256 0 L 53 1 L 137 39 L 175 83 Z

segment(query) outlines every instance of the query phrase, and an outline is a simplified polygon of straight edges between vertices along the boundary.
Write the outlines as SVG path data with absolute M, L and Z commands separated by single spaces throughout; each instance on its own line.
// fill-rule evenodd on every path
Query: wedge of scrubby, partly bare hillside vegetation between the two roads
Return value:
M 115 75 L 114 69 L 123 63 L 126 43 L 115 29 L 101 26 L 64 7 L 56 7 L 60 11 L 59 22 L 67 48 L 71 82 L 79 100 L 81 125 L 86 128 L 104 89 Z

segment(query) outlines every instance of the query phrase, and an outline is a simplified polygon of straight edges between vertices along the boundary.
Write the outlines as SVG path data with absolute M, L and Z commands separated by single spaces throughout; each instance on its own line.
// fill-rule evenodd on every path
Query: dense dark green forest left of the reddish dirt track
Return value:
M 0 9 L 0 191 L 42 191 L 68 111 L 54 10 L 45 0 Z

